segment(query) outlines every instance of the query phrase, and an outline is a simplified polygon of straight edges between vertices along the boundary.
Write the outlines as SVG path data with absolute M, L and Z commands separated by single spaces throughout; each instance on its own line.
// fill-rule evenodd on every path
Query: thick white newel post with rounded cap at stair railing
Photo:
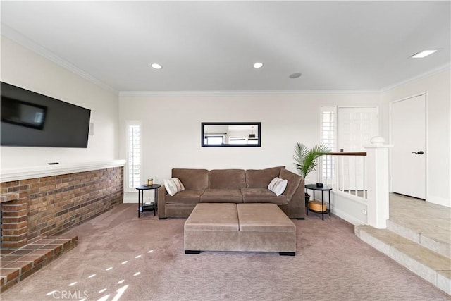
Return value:
M 377 138 L 377 139 L 376 139 Z M 366 166 L 368 179 L 368 224 L 375 228 L 387 228 L 388 206 L 388 149 L 382 137 L 373 137 L 372 145 L 366 145 Z

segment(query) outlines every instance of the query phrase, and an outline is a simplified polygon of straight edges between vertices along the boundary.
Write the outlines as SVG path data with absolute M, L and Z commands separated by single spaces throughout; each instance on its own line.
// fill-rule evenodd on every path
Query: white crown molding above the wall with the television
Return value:
M 106 85 L 106 83 L 102 82 L 101 80 L 94 78 L 92 75 L 89 75 L 89 73 L 86 73 L 80 68 L 74 66 L 72 63 L 64 59 L 61 59 L 61 57 L 57 56 L 56 54 L 42 47 L 36 42 L 33 42 L 31 39 L 28 39 L 24 35 L 17 32 L 16 30 L 13 30 L 13 28 L 9 27 L 8 25 L 5 25 L 4 23 L 1 23 L 1 35 L 7 37 L 8 39 L 11 39 L 13 42 L 20 44 L 21 46 L 27 49 L 30 49 L 31 51 L 35 52 L 36 54 L 39 54 L 40 56 L 44 56 L 44 58 L 56 63 L 58 66 L 66 68 L 72 73 L 75 73 L 76 75 L 85 78 L 85 80 L 92 82 L 94 85 L 98 85 L 99 87 L 105 90 L 118 94 L 118 90 L 114 89 L 109 85 Z

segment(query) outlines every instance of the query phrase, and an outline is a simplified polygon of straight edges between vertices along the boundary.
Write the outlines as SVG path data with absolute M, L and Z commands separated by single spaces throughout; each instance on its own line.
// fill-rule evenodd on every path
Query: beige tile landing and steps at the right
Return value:
M 356 235 L 451 295 L 451 208 L 390 194 L 387 229 L 356 226 Z

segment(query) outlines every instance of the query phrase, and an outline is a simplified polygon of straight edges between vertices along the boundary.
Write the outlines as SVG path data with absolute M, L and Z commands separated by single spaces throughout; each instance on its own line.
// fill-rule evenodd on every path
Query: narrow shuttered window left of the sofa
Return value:
M 141 183 L 141 123 L 140 121 L 128 121 L 127 123 L 127 158 L 128 158 L 128 183 L 127 190 L 135 191 L 135 187 Z

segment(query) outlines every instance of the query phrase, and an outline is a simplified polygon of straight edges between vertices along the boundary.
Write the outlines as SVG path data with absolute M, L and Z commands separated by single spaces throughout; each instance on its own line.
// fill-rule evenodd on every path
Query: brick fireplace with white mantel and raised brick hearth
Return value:
M 61 233 L 123 202 L 118 161 L 2 171 L 0 293 L 78 244 Z

